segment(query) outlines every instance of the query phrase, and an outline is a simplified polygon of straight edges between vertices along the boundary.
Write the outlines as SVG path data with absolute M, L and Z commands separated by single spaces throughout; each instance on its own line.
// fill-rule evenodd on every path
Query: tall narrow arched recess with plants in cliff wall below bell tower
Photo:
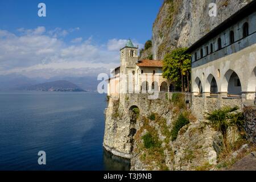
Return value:
M 136 134 L 137 130 L 135 129 L 135 125 L 137 123 L 137 119 L 139 118 L 139 107 L 138 106 L 131 106 L 129 109 L 129 116 L 130 116 L 130 143 L 131 143 L 131 151 L 133 151 L 133 144 L 134 144 L 134 135 Z

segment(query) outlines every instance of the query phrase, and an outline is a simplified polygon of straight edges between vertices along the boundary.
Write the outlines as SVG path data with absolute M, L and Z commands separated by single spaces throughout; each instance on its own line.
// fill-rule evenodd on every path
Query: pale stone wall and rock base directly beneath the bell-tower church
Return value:
M 109 97 L 108 108 L 105 110 L 104 147 L 114 155 L 131 158 L 131 136 L 129 109 L 137 106 L 140 115 L 150 113 L 168 113 L 168 99 L 171 93 L 159 93 L 158 99 L 149 94 L 123 94 L 120 98 Z M 137 129 L 138 129 L 138 125 Z

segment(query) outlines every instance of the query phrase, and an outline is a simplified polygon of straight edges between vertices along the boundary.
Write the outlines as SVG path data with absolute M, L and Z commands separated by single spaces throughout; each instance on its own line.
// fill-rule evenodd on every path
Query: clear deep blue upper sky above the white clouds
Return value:
M 37 15 L 40 2 L 46 3 L 46 18 Z M 79 27 L 80 31 L 66 36 L 65 40 L 93 36 L 97 43 L 127 38 L 144 43 L 151 39 L 152 23 L 161 4 L 160 0 L 5 0 L 0 1 L 0 28 L 15 33 L 18 28 L 33 29 L 38 26 L 47 30 Z

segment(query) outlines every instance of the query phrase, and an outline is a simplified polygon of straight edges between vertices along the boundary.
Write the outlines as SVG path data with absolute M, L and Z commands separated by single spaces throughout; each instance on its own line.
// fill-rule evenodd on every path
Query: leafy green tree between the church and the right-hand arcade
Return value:
M 163 77 L 175 82 L 184 92 L 184 76 L 187 76 L 187 86 L 189 87 L 189 73 L 191 71 L 191 55 L 185 53 L 187 48 L 177 48 L 171 53 L 167 53 L 163 60 Z M 181 83 L 180 83 L 181 82 Z

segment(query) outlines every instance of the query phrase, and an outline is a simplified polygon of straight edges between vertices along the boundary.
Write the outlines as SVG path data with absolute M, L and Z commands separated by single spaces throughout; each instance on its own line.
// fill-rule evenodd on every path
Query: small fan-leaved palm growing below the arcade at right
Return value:
M 232 128 L 241 131 L 243 127 L 243 113 L 239 112 L 238 109 L 238 106 L 225 106 L 221 109 L 214 110 L 211 113 L 205 113 L 205 119 L 208 120 L 208 122 L 205 122 L 205 126 L 208 125 L 212 127 L 213 130 L 220 131 L 226 150 L 228 150 L 228 131 Z

